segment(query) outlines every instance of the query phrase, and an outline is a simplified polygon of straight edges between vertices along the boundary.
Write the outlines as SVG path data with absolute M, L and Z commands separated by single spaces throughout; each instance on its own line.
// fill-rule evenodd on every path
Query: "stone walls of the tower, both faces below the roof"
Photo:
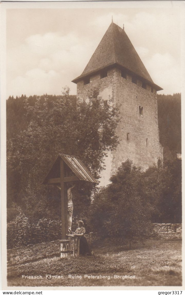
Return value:
M 98 86 L 100 96 L 107 100 L 109 95 L 120 104 L 120 123 L 117 135 L 120 144 L 105 159 L 106 170 L 101 174 L 101 185 L 107 185 L 108 179 L 120 164 L 127 159 L 146 170 L 149 166 L 163 162 L 163 148 L 159 143 L 158 112 L 156 90 L 151 86 L 142 88 L 142 81 L 132 83 L 132 77 L 121 77 L 118 68 L 108 70 L 108 76 L 100 78 L 100 74 L 90 77 L 90 83 L 77 83 L 77 99 L 87 99 L 87 93 L 93 86 Z M 143 115 L 139 114 L 139 106 L 143 107 Z M 127 140 L 129 134 L 129 140 Z

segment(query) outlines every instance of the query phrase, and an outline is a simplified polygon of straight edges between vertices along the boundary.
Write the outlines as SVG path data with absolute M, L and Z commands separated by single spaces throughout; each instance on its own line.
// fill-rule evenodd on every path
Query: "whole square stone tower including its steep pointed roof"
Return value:
M 124 28 L 110 24 L 85 70 L 72 82 L 77 84 L 77 99 L 86 99 L 87 92 L 98 86 L 103 99 L 110 95 L 121 104 L 120 144 L 106 158 L 101 185 L 108 184 L 127 159 L 143 169 L 162 162 L 156 98 L 162 88 L 153 83 Z

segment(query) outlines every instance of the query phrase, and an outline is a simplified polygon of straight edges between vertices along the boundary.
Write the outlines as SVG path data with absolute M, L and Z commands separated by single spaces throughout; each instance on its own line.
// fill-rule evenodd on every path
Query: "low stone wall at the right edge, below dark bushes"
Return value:
M 181 239 L 182 224 L 181 223 L 153 223 L 153 230 L 159 237 L 166 239 Z

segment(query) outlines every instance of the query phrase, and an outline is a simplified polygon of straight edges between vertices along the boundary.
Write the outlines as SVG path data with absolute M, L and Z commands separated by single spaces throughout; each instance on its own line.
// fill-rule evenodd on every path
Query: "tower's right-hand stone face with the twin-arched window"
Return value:
M 136 85 L 132 83 L 131 76 L 127 75 L 127 79 L 121 77 L 119 69 L 116 69 L 115 80 L 114 98 L 121 104 L 121 121 L 117 128 L 120 144 L 113 154 L 112 172 L 115 173 L 127 159 L 147 169 L 150 165 L 157 164 L 159 159 L 163 160 L 156 94 L 151 89 L 143 89 L 140 80 Z M 143 107 L 143 115 L 139 114 L 139 106 Z

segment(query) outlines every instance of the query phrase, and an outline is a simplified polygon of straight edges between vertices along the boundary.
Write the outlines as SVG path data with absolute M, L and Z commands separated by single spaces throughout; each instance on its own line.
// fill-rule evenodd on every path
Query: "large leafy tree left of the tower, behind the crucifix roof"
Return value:
M 66 88 L 60 98 L 36 97 L 34 104 L 24 99 L 24 114 L 27 127 L 7 144 L 7 167 L 19 176 L 14 188 L 17 201 L 32 219 L 56 218 L 61 211 L 60 193 L 55 187 L 42 185 L 44 176 L 58 153 L 65 153 L 79 156 L 98 177 L 106 152 L 118 143 L 118 106 L 112 99 L 103 101 L 97 89 L 87 101 L 76 103 Z M 74 194 L 78 214 L 89 206 L 93 187 L 91 183 L 78 184 Z

